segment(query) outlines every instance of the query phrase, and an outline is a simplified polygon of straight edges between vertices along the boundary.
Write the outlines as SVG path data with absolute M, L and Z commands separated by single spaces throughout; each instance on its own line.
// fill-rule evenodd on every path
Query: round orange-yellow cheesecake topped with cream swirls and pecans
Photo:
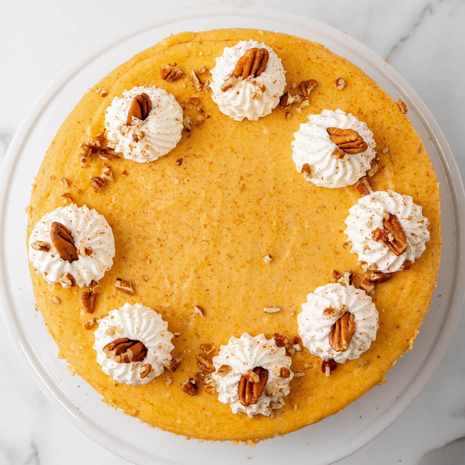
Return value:
M 242 66 L 235 77 L 249 49 L 258 50 L 256 70 Z M 223 91 L 228 79 L 232 87 Z M 304 92 L 300 83 L 309 80 L 316 84 Z M 172 35 L 108 73 L 53 139 L 28 213 L 37 307 L 61 354 L 109 405 L 202 439 L 255 441 L 292 432 L 383 383 L 412 348 L 441 251 L 438 182 L 405 110 L 326 47 L 252 29 Z M 326 124 L 327 114 L 336 123 Z M 332 125 L 363 127 L 355 152 L 343 153 Z M 329 161 L 319 158 L 312 172 L 319 143 Z M 359 172 L 343 176 L 339 187 L 336 174 L 347 159 L 359 160 Z M 309 182 L 314 173 L 322 178 Z M 376 210 L 379 199 L 385 203 Z M 421 238 L 418 228 L 409 229 L 410 213 L 402 216 L 404 204 L 413 205 L 408 211 L 421 223 Z M 111 228 L 105 237 L 114 249 L 105 242 L 98 250 L 114 256 L 89 274 L 98 279 L 78 279 L 76 286 L 69 276 L 52 279 L 47 264 L 72 272 L 84 256 L 83 266 L 93 263 L 97 242 L 86 248 L 86 234 L 69 216 L 80 207 Z M 71 213 L 60 229 L 56 223 L 65 219 L 53 212 L 63 208 Z M 359 227 L 359 211 L 377 216 Z M 399 250 L 400 239 L 389 235 L 399 228 L 407 241 L 413 231 L 421 247 Z M 362 230 L 369 237 L 357 242 Z M 73 238 L 76 254 L 66 255 L 63 240 L 69 245 Z M 372 262 L 364 258 L 369 247 L 383 251 Z M 395 271 L 385 265 L 375 279 L 381 256 Z M 349 304 L 333 309 L 317 299 L 322 291 L 315 290 L 336 281 L 346 289 L 340 296 L 356 295 L 353 301 L 369 310 L 369 337 L 362 326 L 352 330 L 347 352 L 344 344 L 315 342 L 320 327 L 321 337 L 331 338 L 344 315 L 349 330 L 365 318 L 360 310 L 352 321 Z M 345 302 L 338 299 L 331 301 Z M 142 309 L 136 323 L 133 309 Z M 137 321 L 146 328 L 145 348 L 131 342 L 141 333 Z M 349 355 L 335 355 L 335 346 Z M 252 396 L 245 405 L 241 383 L 255 388 L 262 379 L 259 402 Z

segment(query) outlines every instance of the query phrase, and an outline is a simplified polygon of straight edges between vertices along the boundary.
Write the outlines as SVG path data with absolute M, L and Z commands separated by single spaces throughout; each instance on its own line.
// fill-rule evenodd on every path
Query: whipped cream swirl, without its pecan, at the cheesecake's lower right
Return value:
M 331 327 L 340 315 L 323 314 L 327 308 L 340 311 L 341 315 L 344 312 L 352 313 L 355 333 L 349 348 L 344 352 L 336 352 L 329 343 Z M 302 304 L 302 312 L 297 316 L 297 322 L 302 344 L 312 355 L 344 363 L 347 359 L 358 359 L 376 339 L 378 311 L 372 298 L 366 295 L 364 290 L 352 285 L 330 283 L 307 294 L 307 301 Z

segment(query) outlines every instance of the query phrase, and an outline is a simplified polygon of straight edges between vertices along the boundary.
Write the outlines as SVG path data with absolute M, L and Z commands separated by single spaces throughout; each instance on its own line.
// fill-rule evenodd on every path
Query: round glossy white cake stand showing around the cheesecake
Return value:
M 170 33 L 219 27 L 295 34 L 320 42 L 358 65 L 394 100 L 400 97 L 406 102 L 408 117 L 425 143 L 442 193 L 444 248 L 438 288 L 414 350 L 387 374 L 387 384 L 373 388 L 344 411 L 283 438 L 261 442 L 253 449 L 185 441 L 107 407 L 82 379 L 69 376 L 65 361 L 57 359 L 57 346 L 45 331 L 40 313 L 34 311 L 27 267 L 24 208 L 29 203 L 29 186 L 54 134 L 82 93 L 133 54 Z M 237 465 L 252 457 L 259 463 L 317 465 L 350 455 L 389 426 L 417 396 L 449 344 L 464 300 L 465 286 L 458 286 L 458 279 L 465 275 L 460 258 L 465 227 L 460 211 L 465 211 L 465 195 L 438 124 L 405 80 L 371 50 L 332 27 L 282 10 L 208 5 L 157 13 L 88 50 L 47 87 L 27 113 L 3 165 L 0 199 L 1 312 L 20 359 L 67 419 L 94 441 L 136 464 Z M 188 422 L 189 417 L 182 421 Z

